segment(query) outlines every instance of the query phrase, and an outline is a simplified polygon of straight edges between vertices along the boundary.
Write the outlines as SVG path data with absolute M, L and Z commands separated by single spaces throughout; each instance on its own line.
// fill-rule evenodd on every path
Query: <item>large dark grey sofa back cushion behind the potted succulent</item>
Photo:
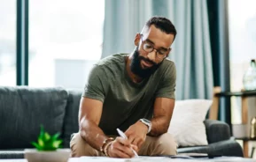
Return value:
M 0 149 L 31 148 L 40 125 L 61 132 L 67 92 L 62 88 L 0 87 Z

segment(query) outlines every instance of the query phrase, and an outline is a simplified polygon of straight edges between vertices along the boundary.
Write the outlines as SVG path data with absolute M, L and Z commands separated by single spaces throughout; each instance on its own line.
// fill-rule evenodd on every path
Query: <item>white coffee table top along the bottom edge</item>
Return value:
M 195 161 L 207 161 L 207 162 L 256 162 L 256 159 L 252 158 L 237 158 L 237 157 L 220 157 L 220 158 L 166 158 L 166 157 L 140 157 L 140 158 L 104 158 L 104 157 L 81 157 L 70 158 L 68 162 L 195 162 Z M 0 159 L 0 162 L 27 162 L 27 159 Z

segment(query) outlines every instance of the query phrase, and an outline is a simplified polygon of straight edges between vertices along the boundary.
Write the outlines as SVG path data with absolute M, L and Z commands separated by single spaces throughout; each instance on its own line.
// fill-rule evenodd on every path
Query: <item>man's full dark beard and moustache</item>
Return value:
M 136 74 L 138 77 L 147 78 L 151 77 L 160 66 L 161 63 L 154 63 L 151 60 L 144 58 L 143 56 L 139 55 L 138 48 L 136 48 L 133 59 L 130 64 L 131 71 Z M 141 66 L 141 61 L 144 60 L 145 62 L 152 63 L 153 65 L 150 68 L 143 69 Z

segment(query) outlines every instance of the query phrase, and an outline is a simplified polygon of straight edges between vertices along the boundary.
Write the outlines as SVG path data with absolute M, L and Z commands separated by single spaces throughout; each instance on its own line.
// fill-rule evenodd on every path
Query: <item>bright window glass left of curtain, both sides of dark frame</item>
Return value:
M 16 10 L 0 0 L 0 85 L 16 85 Z M 105 1 L 30 0 L 29 85 L 82 88 L 83 69 L 101 57 L 104 13 Z

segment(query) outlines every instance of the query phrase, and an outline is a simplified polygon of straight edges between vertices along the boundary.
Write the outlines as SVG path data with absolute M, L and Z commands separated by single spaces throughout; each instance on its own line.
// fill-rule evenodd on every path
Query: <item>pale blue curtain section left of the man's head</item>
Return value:
M 105 24 L 102 58 L 115 53 L 131 53 L 136 33 L 151 18 L 151 1 L 105 0 Z

